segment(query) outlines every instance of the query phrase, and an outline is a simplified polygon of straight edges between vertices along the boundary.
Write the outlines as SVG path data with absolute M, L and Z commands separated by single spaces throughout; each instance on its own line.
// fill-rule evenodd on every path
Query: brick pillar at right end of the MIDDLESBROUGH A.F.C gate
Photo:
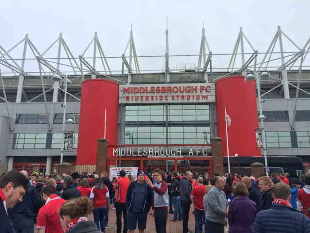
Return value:
M 223 165 L 223 152 L 222 152 L 223 151 L 222 138 L 220 137 L 211 138 L 211 144 L 212 144 L 211 154 L 213 158 L 213 174 L 218 173 L 220 176 L 223 176 L 224 165 Z

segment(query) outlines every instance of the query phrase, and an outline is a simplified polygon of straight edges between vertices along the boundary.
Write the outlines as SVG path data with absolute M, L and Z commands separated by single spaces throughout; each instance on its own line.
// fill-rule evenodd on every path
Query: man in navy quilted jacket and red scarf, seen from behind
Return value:
M 309 218 L 290 204 L 290 186 L 275 184 L 273 197 L 271 208 L 256 215 L 253 233 L 310 233 Z

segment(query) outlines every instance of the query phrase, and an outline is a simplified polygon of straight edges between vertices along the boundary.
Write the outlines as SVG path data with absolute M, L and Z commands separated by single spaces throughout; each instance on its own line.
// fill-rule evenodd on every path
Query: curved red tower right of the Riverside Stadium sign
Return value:
M 258 127 L 255 81 L 232 76 L 216 82 L 217 136 L 223 138 L 223 156 L 227 156 L 225 107 L 232 122 L 227 126 L 229 155 L 261 156 L 256 149 L 254 127 Z

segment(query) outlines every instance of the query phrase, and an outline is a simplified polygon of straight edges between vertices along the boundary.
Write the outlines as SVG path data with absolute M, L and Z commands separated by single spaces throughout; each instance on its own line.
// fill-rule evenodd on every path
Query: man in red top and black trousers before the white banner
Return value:
M 127 233 L 127 210 L 126 210 L 126 193 L 129 187 L 130 181 L 126 178 L 126 172 L 120 171 L 120 177 L 116 180 L 116 191 L 115 191 L 115 208 L 116 208 L 116 233 L 122 232 L 122 212 L 124 218 L 124 229 L 123 233 Z

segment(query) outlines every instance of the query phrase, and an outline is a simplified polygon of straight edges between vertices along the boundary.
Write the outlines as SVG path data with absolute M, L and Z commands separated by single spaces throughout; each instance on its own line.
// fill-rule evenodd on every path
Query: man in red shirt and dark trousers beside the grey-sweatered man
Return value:
M 195 232 L 200 232 L 200 222 L 205 222 L 205 214 L 203 208 L 203 196 L 205 195 L 205 186 L 202 184 L 203 179 L 199 177 L 197 179 L 197 185 L 193 187 L 192 193 L 190 195 L 190 200 L 192 201 L 195 209 Z

